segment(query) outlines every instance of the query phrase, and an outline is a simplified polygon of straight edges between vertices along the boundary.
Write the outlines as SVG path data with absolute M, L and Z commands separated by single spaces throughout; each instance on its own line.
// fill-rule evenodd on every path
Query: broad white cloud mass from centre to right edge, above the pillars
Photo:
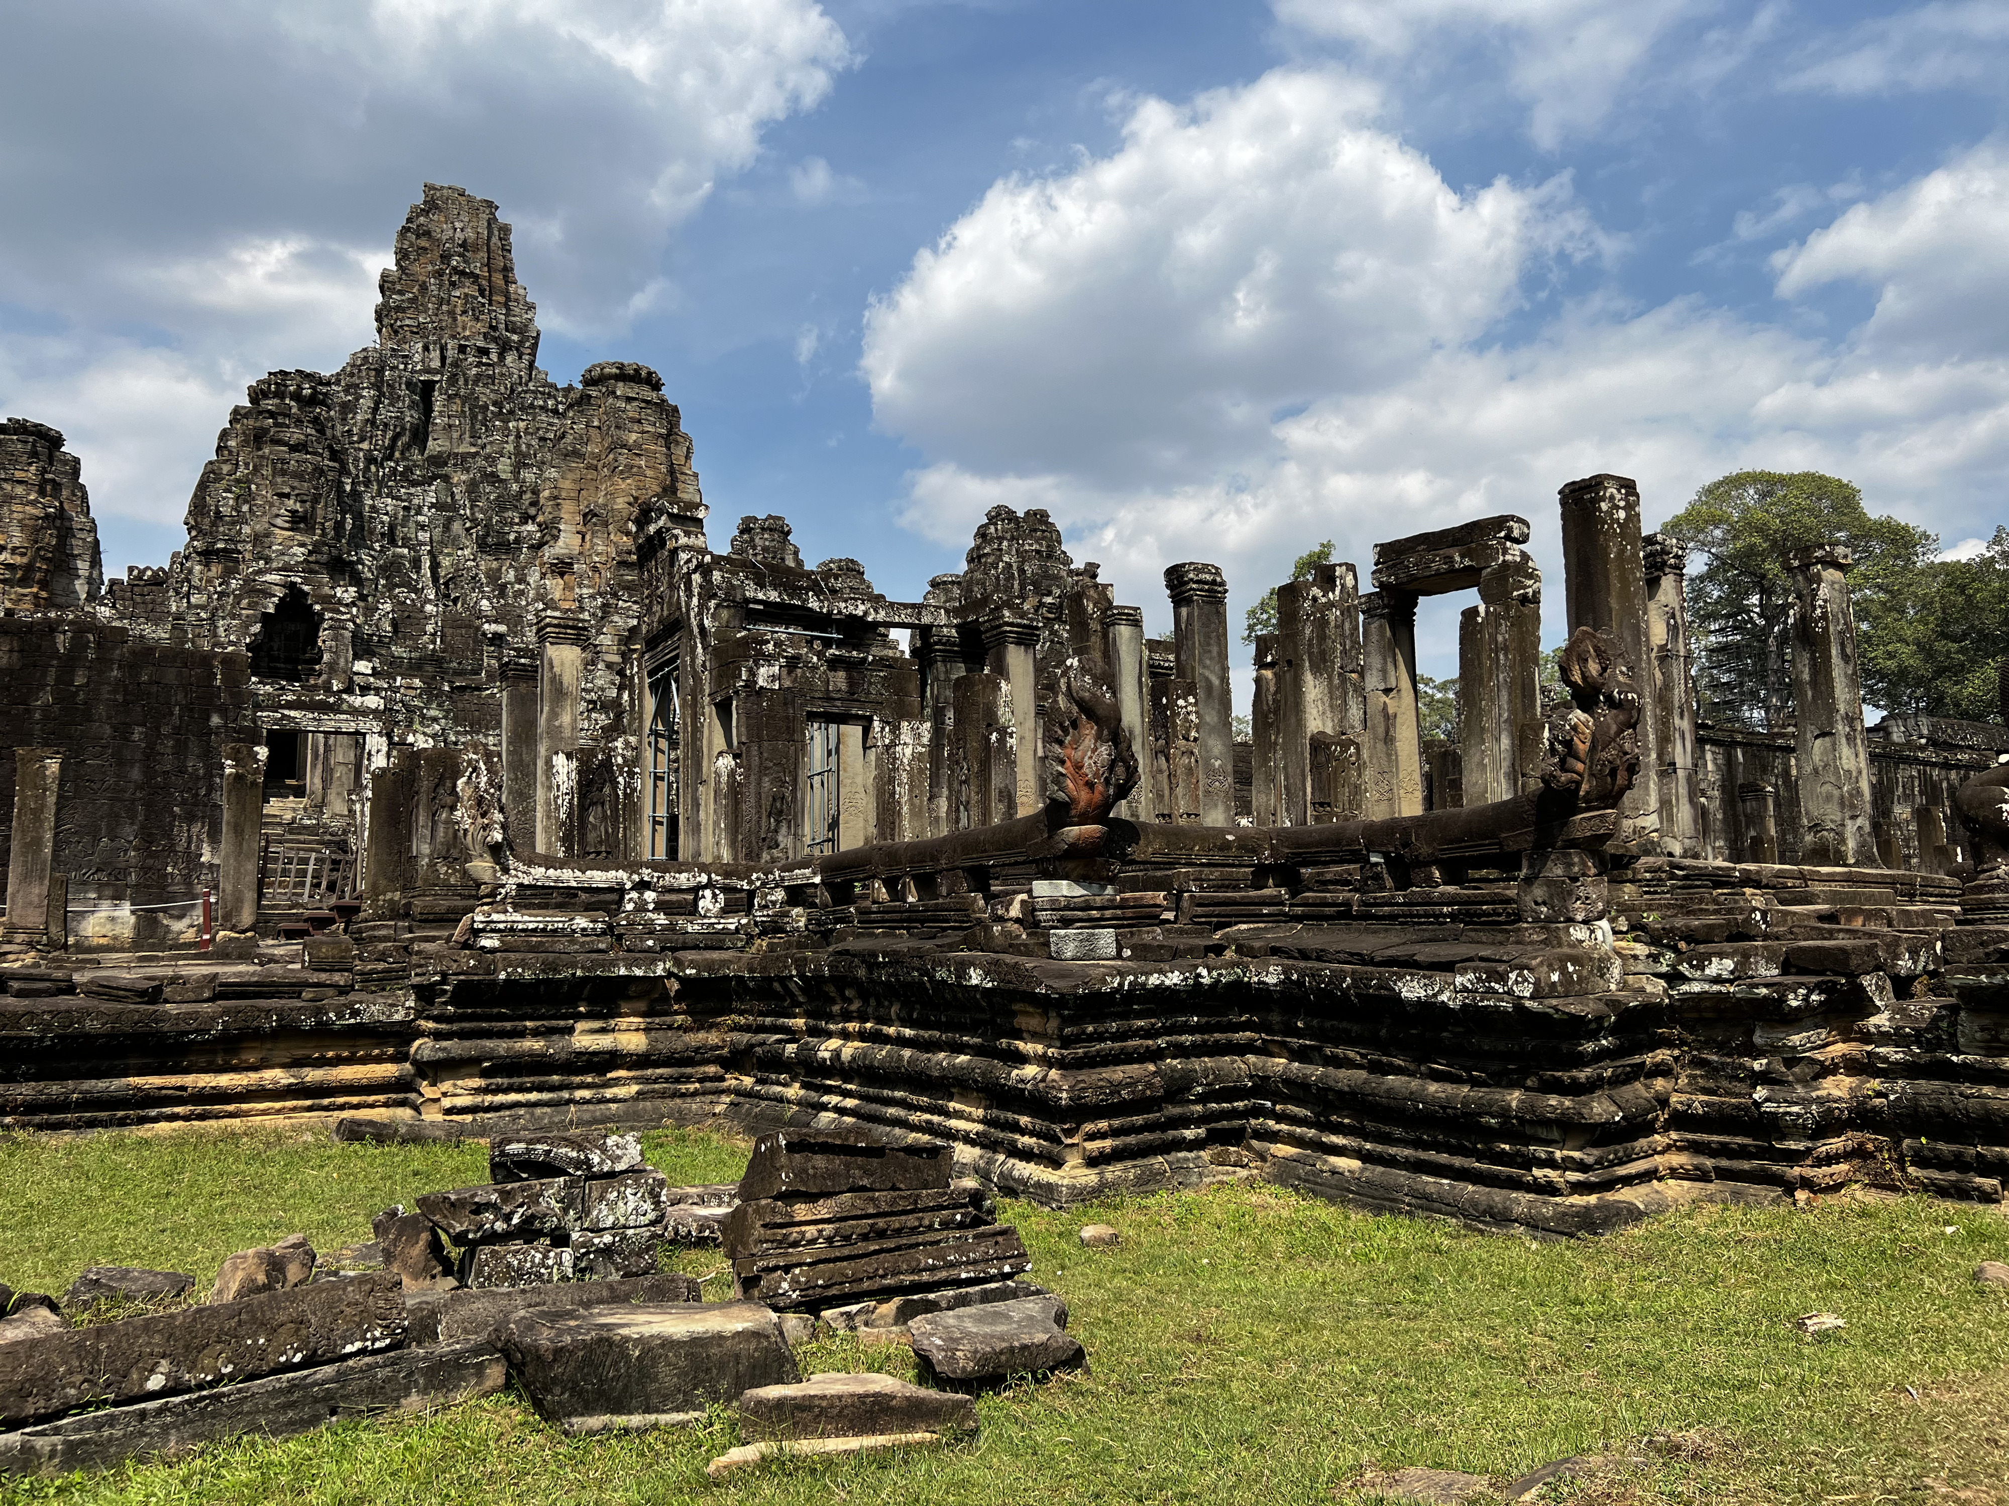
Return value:
M 1282 70 L 1139 102 L 1109 157 L 996 183 L 872 307 L 862 369 L 924 456 L 910 528 L 954 544 L 1043 506 L 1147 608 L 1173 560 L 1221 562 L 1246 604 L 1320 538 L 1366 564 L 1489 512 L 1531 518 L 1553 568 L 1555 488 L 1599 470 L 1641 482 L 1649 526 L 1764 466 L 1963 538 L 2009 466 L 2003 183 L 1973 149 L 1788 247 L 1780 299 L 1876 291 L 1840 337 L 1587 295 L 1509 339 L 1555 257 L 1597 245 L 1567 185 L 1459 195 L 1356 84 Z

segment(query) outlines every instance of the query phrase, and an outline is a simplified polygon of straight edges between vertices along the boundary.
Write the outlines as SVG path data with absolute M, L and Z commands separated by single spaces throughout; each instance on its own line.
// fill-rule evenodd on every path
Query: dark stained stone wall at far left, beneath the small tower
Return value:
M 135 639 L 88 616 L 0 618 L 0 869 L 14 821 L 14 749 L 62 755 L 52 869 L 70 936 L 147 946 L 191 936 L 217 882 L 223 745 L 251 717 L 245 655 Z

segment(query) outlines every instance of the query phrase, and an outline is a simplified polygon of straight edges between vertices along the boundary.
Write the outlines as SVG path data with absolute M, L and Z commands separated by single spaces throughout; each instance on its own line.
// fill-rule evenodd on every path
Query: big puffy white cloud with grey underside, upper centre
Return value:
M 1278 70 L 1141 100 L 1111 157 L 998 181 L 866 315 L 880 426 L 978 470 L 1033 450 L 1171 484 L 1481 335 L 1531 263 L 1591 249 L 1567 181 L 1461 197 L 1372 108 Z

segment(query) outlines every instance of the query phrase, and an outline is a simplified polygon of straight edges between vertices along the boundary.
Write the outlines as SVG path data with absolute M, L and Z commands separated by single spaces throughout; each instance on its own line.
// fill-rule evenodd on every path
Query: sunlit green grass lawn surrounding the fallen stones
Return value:
M 649 1137 L 677 1181 L 729 1181 L 745 1147 Z M 62 1293 L 84 1265 L 191 1271 L 482 1181 L 482 1147 L 336 1145 L 303 1133 L 0 1139 L 0 1281 Z M 2009 1502 L 2009 1221 L 1951 1203 L 1694 1209 L 1585 1243 L 1366 1217 L 1270 1187 L 1055 1215 L 1007 1201 L 1033 1277 L 1067 1297 L 1093 1373 L 980 1404 L 976 1442 L 713 1484 L 731 1420 L 565 1440 L 520 1398 L 348 1424 L 173 1464 L 0 1484 L 66 1502 L 1266 1502 L 1348 1500 L 1364 1468 L 1509 1478 L 1547 1460 L 1645 1464 L 1577 1486 L 1631 1500 Z M 1075 1231 L 1113 1223 L 1123 1245 Z M 711 1275 L 715 1251 L 679 1267 Z M 1840 1313 L 1808 1339 L 1792 1319 Z M 908 1373 L 904 1349 L 832 1339 L 806 1369 Z

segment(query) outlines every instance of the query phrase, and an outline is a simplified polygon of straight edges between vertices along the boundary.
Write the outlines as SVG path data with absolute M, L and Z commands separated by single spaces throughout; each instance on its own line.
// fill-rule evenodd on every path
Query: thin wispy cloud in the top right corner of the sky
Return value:
M 2009 8 L 2001 0 L 1905 6 L 1806 48 L 1788 88 L 1896 94 L 1939 88 L 2003 92 Z

